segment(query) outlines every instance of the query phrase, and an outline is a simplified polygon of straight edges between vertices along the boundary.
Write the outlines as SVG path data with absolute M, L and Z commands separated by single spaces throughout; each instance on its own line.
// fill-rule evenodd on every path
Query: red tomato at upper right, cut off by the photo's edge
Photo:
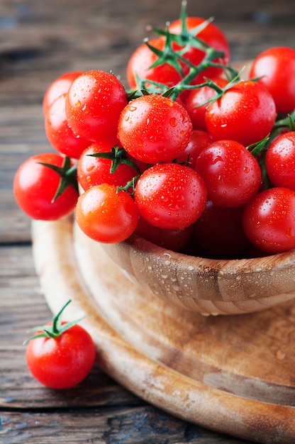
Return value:
M 286 46 L 269 48 L 258 55 L 249 73 L 250 78 L 261 77 L 274 98 L 277 113 L 295 109 L 295 50 Z

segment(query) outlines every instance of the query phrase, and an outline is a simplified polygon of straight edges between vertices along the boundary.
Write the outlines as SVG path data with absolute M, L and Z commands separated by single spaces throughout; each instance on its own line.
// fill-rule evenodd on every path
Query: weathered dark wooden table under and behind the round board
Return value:
M 26 368 L 28 328 L 51 318 L 30 240 L 30 219 L 13 200 L 12 181 L 28 156 L 50 150 L 42 98 L 69 70 L 112 70 L 148 35 L 179 16 L 171 0 L 2 0 L 0 3 L 0 442 L 246 443 L 180 421 L 150 406 L 94 367 L 78 387 L 42 387 Z M 233 60 L 274 45 L 295 47 L 294 0 L 190 1 L 191 15 L 214 16 Z

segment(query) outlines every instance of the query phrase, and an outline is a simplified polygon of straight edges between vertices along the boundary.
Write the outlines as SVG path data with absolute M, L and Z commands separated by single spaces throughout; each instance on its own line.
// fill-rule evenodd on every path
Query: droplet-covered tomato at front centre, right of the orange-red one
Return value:
M 206 187 L 198 173 L 177 163 L 153 165 L 135 185 L 140 216 L 152 225 L 183 230 L 194 223 L 206 205 Z

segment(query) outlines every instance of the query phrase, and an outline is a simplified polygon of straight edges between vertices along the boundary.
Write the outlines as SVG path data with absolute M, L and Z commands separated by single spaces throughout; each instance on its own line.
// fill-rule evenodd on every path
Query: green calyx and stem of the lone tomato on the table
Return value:
M 62 333 L 65 333 L 65 331 L 69 330 L 69 328 L 72 328 L 77 323 L 82 321 L 83 318 L 79 318 L 76 319 L 75 321 L 62 324 L 62 313 L 70 302 L 71 299 L 69 299 L 69 301 L 67 301 L 67 303 L 62 307 L 62 309 L 60 309 L 60 311 L 55 316 L 53 316 L 52 323 L 50 325 L 30 328 L 30 331 L 38 331 L 40 333 L 30 336 L 30 338 L 28 338 L 23 343 L 23 345 L 26 345 L 30 340 L 36 338 L 52 338 L 52 339 L 59 338 L 62 335 Z

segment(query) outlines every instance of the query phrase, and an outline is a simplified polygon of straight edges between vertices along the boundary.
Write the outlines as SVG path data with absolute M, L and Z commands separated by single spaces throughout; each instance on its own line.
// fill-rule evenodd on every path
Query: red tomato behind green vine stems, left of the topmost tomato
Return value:
M 163 50 L 165 40 L 157 38 L 150 40 L 149 44 L 157 50 Z M 148 46 L 143 43 L 130 56 L 127 65 L 127 80 L 131 89 L 136 89 L 140 85 L 136 82 L 136 74 L 140 79 L 150 79 L 154 82 L 166 85 L 166 87 L 173 87 L 182 79 L 181 74 L 175 70 L 174 67 L 168 63 L 150 68 L 150 66 L 157 61 L 158 57 L 155 52 L 152 52 Z

